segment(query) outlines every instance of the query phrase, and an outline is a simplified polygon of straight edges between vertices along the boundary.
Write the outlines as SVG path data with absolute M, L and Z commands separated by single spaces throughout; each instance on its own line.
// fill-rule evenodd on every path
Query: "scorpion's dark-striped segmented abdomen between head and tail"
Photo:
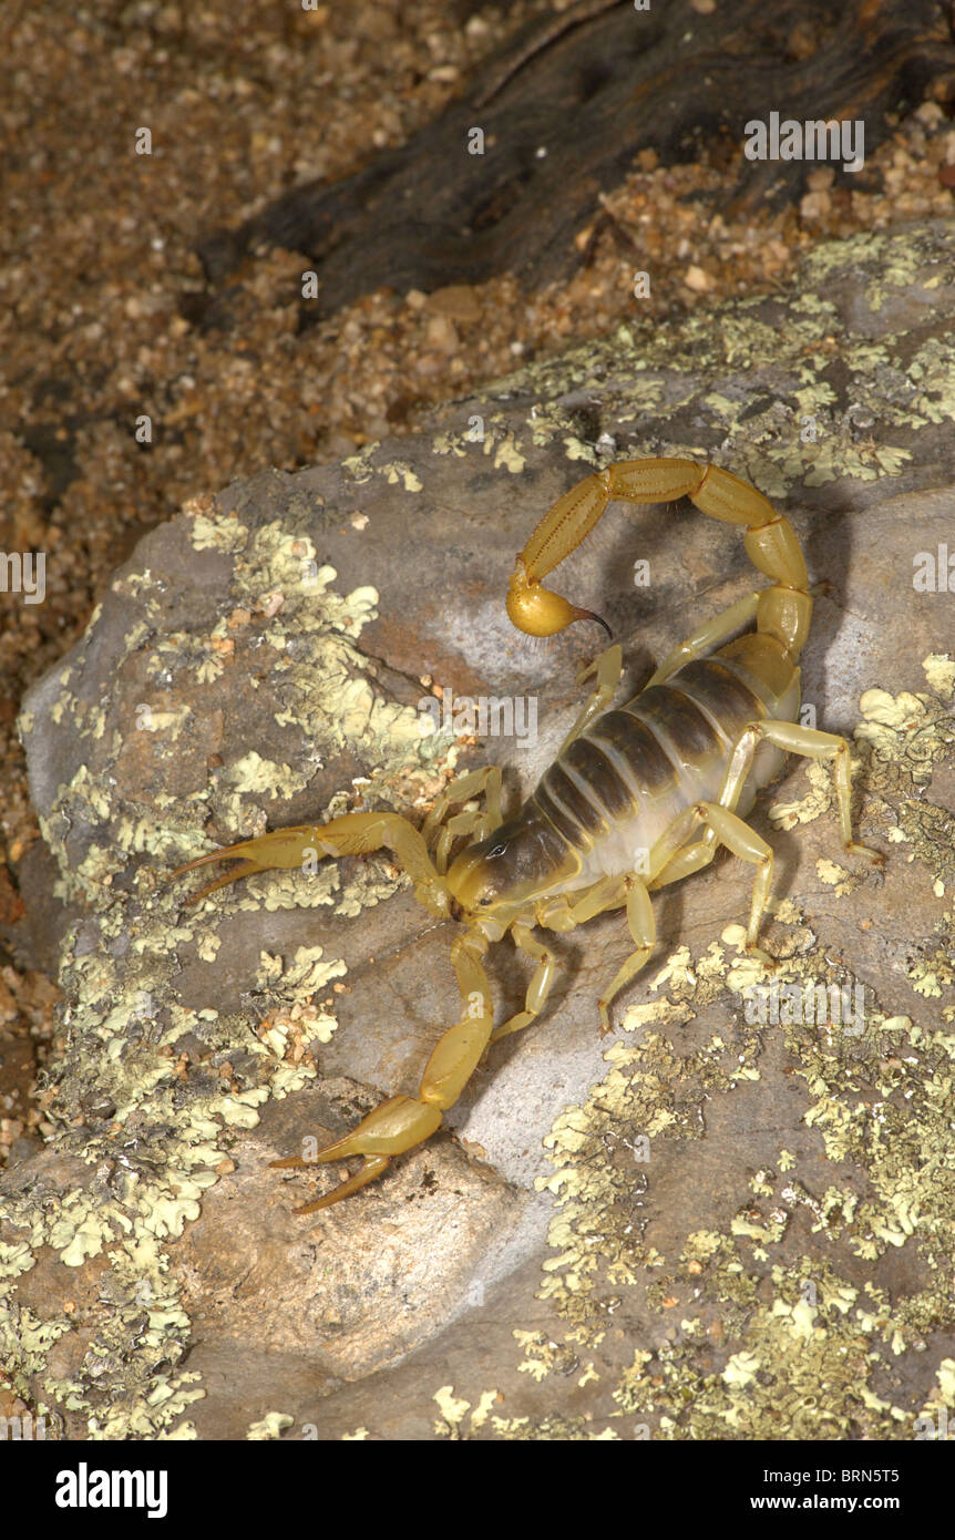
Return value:
M 713 656 L 684 664 L 667 684 L 598 718 L 531 798 L 584 861 L 575 887 L 641 870 L 641 852 L 678 813 L 719 796 L 730 748 L 747 722 L 787 718 L 792 704 L 741 664 Z M 759 747 L 736 807 L 742 818 L 782 759 L 781 750 Z

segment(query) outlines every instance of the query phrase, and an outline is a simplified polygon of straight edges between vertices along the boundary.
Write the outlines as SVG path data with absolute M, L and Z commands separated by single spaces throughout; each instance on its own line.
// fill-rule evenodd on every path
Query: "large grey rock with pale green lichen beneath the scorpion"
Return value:
M 952 1404 L 955 601 L 913 578 L 950 541 L 953 308 L 949 226 L 823 246 L 772 299 L 621 326 L 140 542 L 23 711 L 66 1006 L 59 1132 L 2 1189 L 0 1343 L 68 1437 L 909 1438 Z M 333 1173 L 266 1163 L 414 1090 L 459 1010 L 454 926 L 379 858 L 196 907 L 168 872 L 266 822 L 419 816 L 454 759 L 530 790 L 598 638 L 510 628 L 514 551 L 591 465 L 642 454 L 712 456 L 804 541 L 806 702 L 855 732 L 889 865 L 843 856 L 829 772 L 792 761 L 755 815 L 766 935 L 801 1003 L 849 993 L 759 1019 L 733 929 L 752 879 L 718 861 L 658 898 L 610 1043 L 618 915 L 555 939 L 541 1024 L 447 1132 L 294 1217 Z M 658 507 L 608 514 L 558 587 L 613 624 L 636 688 L 752 584 L 729 527 Z M 539 732 L 422 736 L 442 688 Z M 519 1009 L 524 959 L 502 944 L 490 970 Z

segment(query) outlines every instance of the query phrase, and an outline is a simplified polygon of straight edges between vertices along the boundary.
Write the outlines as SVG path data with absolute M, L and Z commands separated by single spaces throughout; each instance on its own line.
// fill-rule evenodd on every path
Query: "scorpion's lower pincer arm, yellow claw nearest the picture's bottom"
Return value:
M 362 1164 L 354 1177 L 333 1187 L 314 1203 L 307 1203 L 296 1214 L 316 1214 L 359 1187 L 373 1181 L 387 1169 L 394 1155 L 422 1144 L 441 1127 L 444 1112 L 457 1101 L 490 1041 L 493 1015 L 487 973 L 481 958 L 487 941 L 478 932 L 459 936 L 451 947 L 451 962 L 457 976 L 464 1013 L 456 1026 L 437 1040 L 427 1063 L 417 1096 L 390 1096 L 380 1107 L 362 1118 L 359 1126 L 336 1140 L 334 1144 L 307 1158 L 293 1155 L 273 1161 L 273 1166 L 293 1167 L 325 1164 L 360 1155 Z

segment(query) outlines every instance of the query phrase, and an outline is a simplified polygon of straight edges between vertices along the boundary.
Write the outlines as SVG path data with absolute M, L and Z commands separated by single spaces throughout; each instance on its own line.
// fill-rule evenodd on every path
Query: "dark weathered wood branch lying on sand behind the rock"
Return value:
M 538 285 L 573 266 L 573 236 L 641 149 L 676 163 L 705 146 L 730 165 L 746 123 L 779 112 L 863 119 L 870 156 L 890 116 L 940 82 L 955 82 L 955 43 L 937 0 L 721 0 L 710 15 L 690 0 L 650 11 L 582 0 L 485 60 L 407 145 L 205 239 L 208 300 L 263 245 L 302 251 L 316 268 L 319 306 L 303 323 L 384 285 L 428 291 L 504 271 Z M 476 128 L 484 154 L 468 152 Z M 722 213 L 798 197 L 807 169 L 744 160 Z M 849 180 L 864 185 L 866 171 Z

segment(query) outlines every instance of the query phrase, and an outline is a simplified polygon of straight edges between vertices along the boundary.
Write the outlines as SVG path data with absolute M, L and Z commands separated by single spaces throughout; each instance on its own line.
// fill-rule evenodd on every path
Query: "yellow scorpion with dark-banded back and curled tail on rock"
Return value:
M 596 471 L 553 504 L 519 553 L 507 594 L 511 622 L 530 636 L 553 636 L 575 621 L 599 619 L 545 588 L 542 579 L 593 530 L 612 500 L 653 504 L 682 496 L 701 513 L 746 530 L 747 556 L 770 585 L 693 631 L 645 688 L 616 710 L 607 707 L 619 685 L 622 650 L 612 645 L 602 651 L 579 676 L 584 682 L 593 675 L 595 682 L 558 758 L 513 818 L 502 816 L 501 768 L 491 765 L 453 781 L 421 829 L 394 812 L 345 813 L 328 824 L 282 829 L 211 850 L 174 873 L 240 861 L 206 884 L 191 899 L 197 902 L 237 878 L 300 867 L 316 853 L 364 855 L 384 847 L 431 915 L 465 927 L 451 944 L 462 1015 L 431 1052 L 417 1096 L 390 1096 L 351 1133 L 311 1158 L 271 1163 L 290 1169 L 360 1157 L 354 1175 L 296 1214 L 339 1203 L 380 1177 L 396 1155 L 428 1140 L 488 1046 L 536 1019 L 555 978 L 555 956 L 534 935 L 536 927 L 567 932 L 607 910 L 625 910 L 633 952 L 598 1001 L 605 1033 L 610 1003 L 639 973 L 656 942 L 650 893 L 699 872 L 725 847 L 755 867 L 746 949 L 773 969 L 775 959 L 758 944 L 773 852 L 746 815 L 787 753 L 835 762 L 843 845 L 876 865 L 884 862 L 880 852 L 852 838 L 847 741 L 796 721 L 798 658 L 812 616 L 806 562 L 789 519 L 749 482 L 689 459 L 622 460 Z M 727 641 L 753 619 L 755 630 Z M 476 810 L 481 796 L 485 805 Z M 456 805 L 461 812 L 451 815 Z M 448 864 L 462 835 L 471 842 Z M 536 967 L 524 1010 L 494 1027 L 482 958 L 508 932 Z

